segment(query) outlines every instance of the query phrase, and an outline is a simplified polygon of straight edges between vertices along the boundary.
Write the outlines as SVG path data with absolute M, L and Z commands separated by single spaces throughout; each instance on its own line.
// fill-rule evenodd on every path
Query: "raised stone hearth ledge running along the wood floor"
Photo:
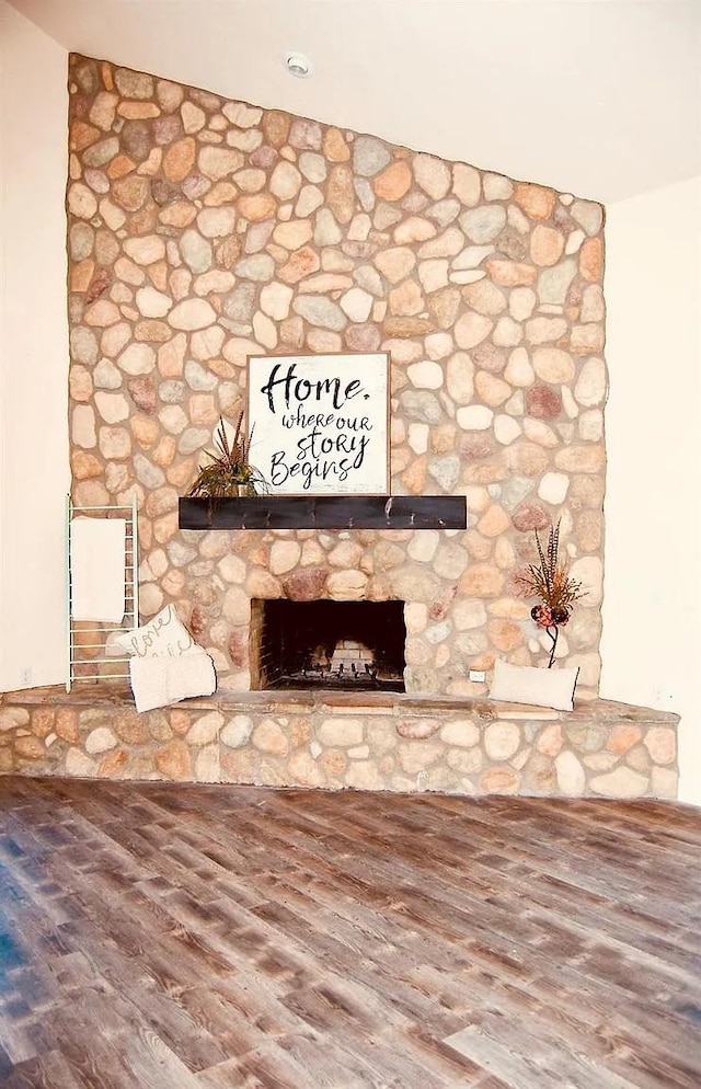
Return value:
M 677 796 L 677 725 L 392 692 L 219 691 L 138 714 L 106 683 L 0 697 L 0 772 L 466 795 Z

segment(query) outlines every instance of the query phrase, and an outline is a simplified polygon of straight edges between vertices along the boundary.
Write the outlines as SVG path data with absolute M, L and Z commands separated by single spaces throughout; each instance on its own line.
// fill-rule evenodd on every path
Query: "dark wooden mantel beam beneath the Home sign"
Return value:
M 180 529 L 466 529 L 464 495 L 181 498 Z

